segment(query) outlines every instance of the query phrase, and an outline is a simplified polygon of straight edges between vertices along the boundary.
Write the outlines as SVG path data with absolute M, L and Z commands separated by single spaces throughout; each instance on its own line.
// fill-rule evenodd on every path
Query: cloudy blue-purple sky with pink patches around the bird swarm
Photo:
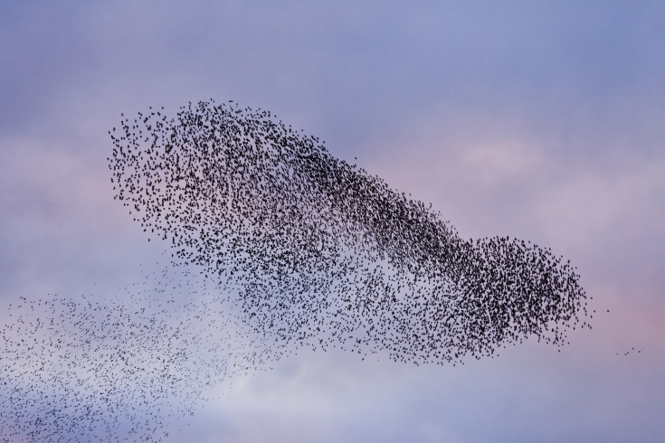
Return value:
M 113 200 L 108 131 L 234 100 L 462 238 L 552 248 L 597 314 L 561 352 L 527 341 L 455 367 L 302 350 L 165 441 L 663 441 L 664 22 L 647 1 L 4 1 L 0 303 L 121 297 L 164 263 Z

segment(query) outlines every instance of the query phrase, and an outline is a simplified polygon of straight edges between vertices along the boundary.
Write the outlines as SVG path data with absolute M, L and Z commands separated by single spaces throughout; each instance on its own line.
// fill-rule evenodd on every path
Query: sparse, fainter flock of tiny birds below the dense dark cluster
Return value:
M 168 437 L 215 385 L 270 358 L 222 307 L 180 269 L 109 298 L 22 297 L 2 329 L 0 441 Z

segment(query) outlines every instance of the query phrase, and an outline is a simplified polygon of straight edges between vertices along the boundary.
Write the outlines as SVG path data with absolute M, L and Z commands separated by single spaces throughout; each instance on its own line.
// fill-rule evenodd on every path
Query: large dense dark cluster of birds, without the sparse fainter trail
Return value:
M 110 134 L 117 198 L 176 261 L 233 290 L 266 340 L 455 363 L 528 335 L 562 344 L 586 314 L 579 276 L 551 250 L 461 240 L 268 111 L 151 108 Z

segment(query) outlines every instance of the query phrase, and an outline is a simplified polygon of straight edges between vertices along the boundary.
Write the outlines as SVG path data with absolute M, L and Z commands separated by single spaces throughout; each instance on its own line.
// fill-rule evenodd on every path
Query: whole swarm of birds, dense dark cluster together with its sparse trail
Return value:
M 454 365 L 590 327 L 579 275 L 551 250 L 462 240 L 317 137 L 231 103 L 109 131 L 115 198 L 170 244 L 171 274 L 128 299 L 14 306 L 4 441 L 157 441 L 216 383 L 303 346 Z

